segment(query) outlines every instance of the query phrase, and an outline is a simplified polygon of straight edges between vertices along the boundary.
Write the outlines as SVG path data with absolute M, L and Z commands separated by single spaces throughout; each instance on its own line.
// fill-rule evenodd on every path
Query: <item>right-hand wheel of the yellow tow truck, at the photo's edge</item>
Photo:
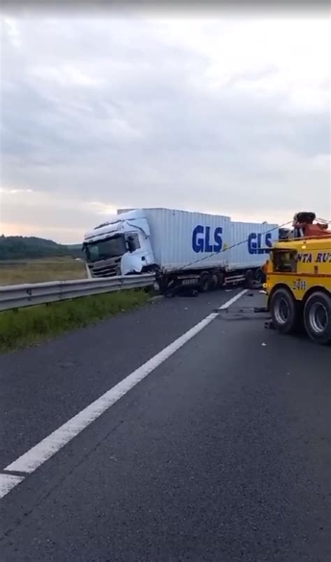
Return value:
M 331 297 L 323 292 L 313 293 L 304 305 L 304 327 L 316 343 L 331 343 Z

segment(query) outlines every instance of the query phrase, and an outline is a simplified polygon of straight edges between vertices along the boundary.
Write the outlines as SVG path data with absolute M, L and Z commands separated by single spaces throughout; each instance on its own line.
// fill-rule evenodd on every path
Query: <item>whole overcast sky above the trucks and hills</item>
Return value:
M 0 233 L 123 207 L 330 219 L 330 20 L 3 15 Z

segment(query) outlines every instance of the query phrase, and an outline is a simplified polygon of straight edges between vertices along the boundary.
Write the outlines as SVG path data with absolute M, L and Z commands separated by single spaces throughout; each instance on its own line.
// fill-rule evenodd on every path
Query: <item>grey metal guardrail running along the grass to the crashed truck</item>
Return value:
M 0 287 L 0 311 L 24 306 L 64 301 L 66 298 L 109 293 L 122 289 L 138 289 L 154 285 L 155 276 L 123 275 L 112 278 L 50 281 Z

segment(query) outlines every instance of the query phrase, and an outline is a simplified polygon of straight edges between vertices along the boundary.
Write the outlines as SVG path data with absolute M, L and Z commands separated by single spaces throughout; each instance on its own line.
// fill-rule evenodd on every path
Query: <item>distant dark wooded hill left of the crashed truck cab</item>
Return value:
M 36 236 L 0 236 L 0 260 L 82 257 L 81 244 L 57 244 Z

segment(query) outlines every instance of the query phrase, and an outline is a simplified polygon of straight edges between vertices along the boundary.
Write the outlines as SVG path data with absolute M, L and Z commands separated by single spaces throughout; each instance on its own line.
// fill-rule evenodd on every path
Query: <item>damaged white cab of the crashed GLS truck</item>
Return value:
M 83 251 L 89 278 L 152 271 L 155 260 L 144 211 L 122 212 L 88 231 Z

